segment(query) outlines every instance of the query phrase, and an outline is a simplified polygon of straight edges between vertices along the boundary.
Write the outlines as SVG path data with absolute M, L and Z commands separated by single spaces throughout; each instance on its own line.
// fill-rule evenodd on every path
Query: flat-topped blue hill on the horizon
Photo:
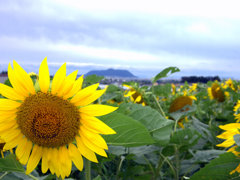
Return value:
M 122 77 L 122 78 L 135 78 L 131 72 L 128 70 L 121 70 L 121 69 L 107 69 L 107 70 L 93 70 L 89 71 L 86 76 L 96 74 L 98 76 L 105 76 L 105 77 Z

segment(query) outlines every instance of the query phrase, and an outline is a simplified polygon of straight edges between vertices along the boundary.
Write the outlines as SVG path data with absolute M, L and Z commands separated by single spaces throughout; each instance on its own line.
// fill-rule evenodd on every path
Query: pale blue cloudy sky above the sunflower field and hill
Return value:
M 16 60 L 50 73 L 126 69 L 151 78 L 169 66 L 240 79 L 238 0 L 0 0 L 0 71 Z

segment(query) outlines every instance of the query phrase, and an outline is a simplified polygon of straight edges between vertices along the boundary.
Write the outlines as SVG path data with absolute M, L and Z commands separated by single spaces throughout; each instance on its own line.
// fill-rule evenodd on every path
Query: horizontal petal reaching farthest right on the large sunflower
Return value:
M 108 105 L 99 105 L 91 104 L 79 109 L 80 113 L 89 115 L 89 116 L 103 116 L 115 111 L 118 107 L 108 106 Z

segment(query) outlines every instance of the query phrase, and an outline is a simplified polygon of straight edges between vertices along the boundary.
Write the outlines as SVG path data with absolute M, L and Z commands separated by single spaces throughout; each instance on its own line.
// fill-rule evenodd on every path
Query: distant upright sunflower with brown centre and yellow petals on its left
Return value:
M 212 86 L 208 88 L 208 95 L 210 99 L 216 99 L 218 102 L 223 102 L 227 94 L 224 94 L 221 86 L 217 82 L 214 82 Z

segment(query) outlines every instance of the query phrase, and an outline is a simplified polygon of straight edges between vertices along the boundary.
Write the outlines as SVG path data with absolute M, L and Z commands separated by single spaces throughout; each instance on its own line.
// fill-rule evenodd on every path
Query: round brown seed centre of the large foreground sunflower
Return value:
M 79 130 L 79 120 L 76 106 L 42 92 L 27 97 L 17 112 L 21 132 L 33 143 L 45 147 L 72 142 Z

